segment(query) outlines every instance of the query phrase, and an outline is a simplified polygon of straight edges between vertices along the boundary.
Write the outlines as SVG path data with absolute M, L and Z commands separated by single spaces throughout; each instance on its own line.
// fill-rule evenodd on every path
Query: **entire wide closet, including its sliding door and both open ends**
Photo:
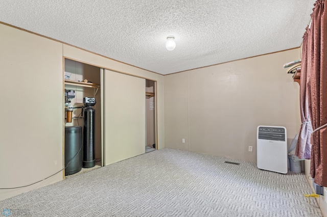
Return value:
M 64 177 L 79 175 L 112 162 L 157 149 L 155 81 L 112 72 L 67 58 L 64 59 L 63 76 L 65 98 Z M 146 87 L 144 87 L 144 80 Z M 142 83 L 143 88 L 140 86 Z M 127 84 L 128 86 L 126 86 Z M 138 102 L 135 102 L 137 106 L 130 104 L 136 98 L 128 98 L 126 95 L 127 93 L 134 94 L 134 91 L 125 90 L 132 86 L 135 86 L 137 90 L 145 90 L 145 95 L 144 92 L 143 94 L 139 93 L 143 97 L 137 97 Z M 116 97 L 114 93 L 118 91 L 117 88 L 120 90 L 119 92 L 126 92 L 124 98 Z M 106 103 L 104 101 L 105 94 Z M 145 113 L 143 110 L 143 112 L 134 114 L 137 109 L 141 107 L 144 109 L 144 103 Z M 106 116 L 104 115 L 105 111 Z M 131 119 L 132 114 L 139 114 L 138 118 Z M 144 115 L 145 132 L 128 128 L 135 123 L 144 123 Z M 124 118 L 126 117 L 130 118 L 125 123 Z M 143 121 L 136 121 L 138 119 L 143 119 Z M 138 135 L 135 135 L 134 138 L 133 133 L 135 132 Z M 134 139 L 129 141 L 131 138 Z M 143 151 L 137 151 L 135 141 L 144 144 Z

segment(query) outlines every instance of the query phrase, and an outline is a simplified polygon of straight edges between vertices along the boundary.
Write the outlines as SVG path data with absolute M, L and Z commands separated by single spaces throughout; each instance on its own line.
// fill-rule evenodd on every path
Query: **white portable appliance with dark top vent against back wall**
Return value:
M 256 161 L 261 170 L 286 174 L 287 136 L 281 126 L 258 126 L 256 133 Z

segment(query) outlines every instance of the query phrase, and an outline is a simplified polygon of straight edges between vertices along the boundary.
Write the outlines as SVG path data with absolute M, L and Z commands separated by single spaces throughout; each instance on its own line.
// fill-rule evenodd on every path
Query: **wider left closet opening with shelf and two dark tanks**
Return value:
M 64 59 L 64 178 L 103 166 L 102 72 Z

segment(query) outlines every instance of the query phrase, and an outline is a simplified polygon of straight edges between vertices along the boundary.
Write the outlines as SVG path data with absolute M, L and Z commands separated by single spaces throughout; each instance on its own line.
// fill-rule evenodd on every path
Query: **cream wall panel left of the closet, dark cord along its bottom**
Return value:
M 62 44 L 0 24 L 0 187 L 32 184 L 63 165 Z M 0 190 L 0 200 L 62 180 Z

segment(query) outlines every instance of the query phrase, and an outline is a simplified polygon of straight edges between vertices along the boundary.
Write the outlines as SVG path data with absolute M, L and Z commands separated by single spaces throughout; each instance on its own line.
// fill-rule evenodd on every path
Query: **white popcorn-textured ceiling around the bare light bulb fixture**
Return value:
M 0 0 L 0 21 L 169 74 L 299 47 L 314 3 Z M 170 35 L 176 41 L 173 51 L 165 48 Z

